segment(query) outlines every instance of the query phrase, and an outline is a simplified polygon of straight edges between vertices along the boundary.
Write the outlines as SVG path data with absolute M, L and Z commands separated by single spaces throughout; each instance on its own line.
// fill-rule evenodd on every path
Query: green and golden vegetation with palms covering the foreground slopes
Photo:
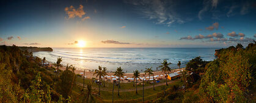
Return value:
M 196 57 L 180 72 L 181 79 L 172 80 L 169 85 L 158 85 L 155 90 L 152 87 L 144 89 L 151 84 L 136 84 L 137 95 L 134 91 L 120 91 L 120 79 L 106 82 L 100 96 L 93 88 L 100 88 L 100 85 L 77 76 L 72 65 L 67 65 L 64 71 L 59 70 L 62 58 L 57 59 L 56 68 L 45 68 L 42 66 L 45 59 L 34 57 L 32 52 L 15 45 L 1 45 L 0 102 L 255 102 L 255 50 L 254 42 L 245 48 L 238 44 L 216 50 L 214 61 Z M 165 74 L 170 72 L 169 64 L 164 60 L 160 66 Z M 54 73 L 54 70 L 57 71 Z M 153 75 L 149 70 L 145 72 Z M 105 72 L 106 68 L 101 66 L 95 70 L 100 81 Z M 114 75 L 122 78 L 123 69 L 118 67 Z M 138 77 L 136 70 L 134 78 Z M 114 89 L 115 83 L 118 88 Z M 165 81 L 159 83 L 165 84 Z M 134 89 L 132 84 L 125 83 L 122 89 Z

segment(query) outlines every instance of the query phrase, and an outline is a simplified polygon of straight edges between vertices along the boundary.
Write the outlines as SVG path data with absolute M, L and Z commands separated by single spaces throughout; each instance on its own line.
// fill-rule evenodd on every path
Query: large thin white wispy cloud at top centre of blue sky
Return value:
M 140 14 L 147 19 L 155 20 L 156 24 L 165 24 L 170 26 L 173 23 L 183 24 L 185 21 L 175 12 L 174 3 L 172 1 L 161 0 L 137 0 L 128 1 L 126 3 L 139 7 Z

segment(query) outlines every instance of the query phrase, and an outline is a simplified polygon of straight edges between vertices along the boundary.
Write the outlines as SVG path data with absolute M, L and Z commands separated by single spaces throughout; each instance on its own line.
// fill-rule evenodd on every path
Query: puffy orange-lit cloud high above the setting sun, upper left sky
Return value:
M 82 18 L 82 15 L 85 15 L 86 12 L 84 12 L 84 6 L 79 5 L 79 8 L 74 8 L 73 5 L 71 5 L 70 7 L 66 7 L 65 8 L 65 12 L 68 15 L 68 19 L 72 19 L 75 18 L 76 16 L 78 16 L 79 18 Z

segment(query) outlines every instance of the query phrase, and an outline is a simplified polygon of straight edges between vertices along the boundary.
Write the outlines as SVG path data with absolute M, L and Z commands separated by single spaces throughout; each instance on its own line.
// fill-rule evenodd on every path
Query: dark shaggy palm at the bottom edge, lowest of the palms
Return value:
M 100 95 L 98 95 L 96 91 L 92 89 L 92 82 L 89 82 L 86 86 L 86 90 L 84 92 L 84 99 L 82 99 L 82 102 L 95 102 L 95 98 L 97 97 L 100 97 Z

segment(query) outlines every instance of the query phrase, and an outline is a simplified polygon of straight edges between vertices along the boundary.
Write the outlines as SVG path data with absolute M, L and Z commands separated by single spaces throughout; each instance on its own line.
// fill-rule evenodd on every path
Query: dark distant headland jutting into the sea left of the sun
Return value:
M 36 51 L 53 51 L 50 47 L 19 47 L 22 51 L 36 52 Z

